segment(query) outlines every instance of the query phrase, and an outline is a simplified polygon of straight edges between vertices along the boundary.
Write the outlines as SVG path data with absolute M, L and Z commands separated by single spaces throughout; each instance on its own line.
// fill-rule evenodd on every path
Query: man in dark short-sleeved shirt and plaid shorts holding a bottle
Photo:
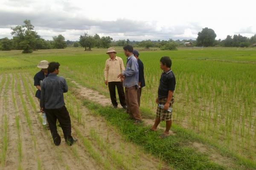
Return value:
M 157 104 L 163 105 L 164 108 L 161 108 L 160 106 L 157 107 L 157 116 L 154 125 L 150 128 L 153 131 L 157 131 L 159 123 L 161 121 L 166 121 L 166 130 L 161 136 L 159 136 L 160 138 L 169 136 L 169 130 L 172 126 L 172 105 L 174 103 L 173 93 L 175 90 L 176 79 L 171 70 L 171 66 L 172 60 L 169 57 L 162 57 L 160 59 L 160 68 L 163 70 L 163 73 L 160 78 L 156 102 Z

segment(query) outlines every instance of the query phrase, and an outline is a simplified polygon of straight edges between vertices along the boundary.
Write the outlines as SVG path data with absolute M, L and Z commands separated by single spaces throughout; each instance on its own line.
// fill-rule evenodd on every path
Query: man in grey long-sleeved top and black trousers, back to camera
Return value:
M 68 145 L 74 144 L 77 139 L 71 136 L 70 116 L 65 107 L 63 93 L 67 93 L 67 82 L 59 74 L 58 62 L 50 62 L 48 67 L 49 76 L 43 80 L 41 86 L 41 111 L 45 111 L 47 121 L 52 133 L 52 139 L 56 146 L 61 143 L 61 137 L 58 134 L 56 121 L 60 122 L 64 139 Z

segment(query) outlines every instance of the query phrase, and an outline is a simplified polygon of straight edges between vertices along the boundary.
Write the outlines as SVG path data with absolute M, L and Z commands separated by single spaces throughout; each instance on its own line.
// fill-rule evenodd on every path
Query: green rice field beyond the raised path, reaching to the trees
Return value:
M 61 64 L 60 76 L 69 77 L 109 97 L 103 76 L 105 60 L 108 58 L 105 51 L 96 48 L 93 51 L 83 51 L 83 48 L 38 50 L 32 54 L 0 51 L 0 61 L 3 63 L 0 71 L 16 69 L 33 77 L 39 71 L 36 65 L 41 60 L 58 61 Z M 116 51 L 125 63 L 122 48 L 116 48 Z M 174 126 L 189 129 L 203 136 L 201 140 L 211 141 L 221 146 L 221 150 L 232 150 L 236 157 L 255 163 L 256 48 L 139 51 L 146 82 L 141 98 L 142 111 L 154 115 L 157 107 L 154 101 L 161 74 L 159 60 L 162 56 L 170 56 L 177 80 Z M 32 84 L 31 80 L 28 82 Z M 73 107 L 74 111 L 79 111 L 76 105 Z M 76 119 L 83 122 L 81 115 L 76 115 Z

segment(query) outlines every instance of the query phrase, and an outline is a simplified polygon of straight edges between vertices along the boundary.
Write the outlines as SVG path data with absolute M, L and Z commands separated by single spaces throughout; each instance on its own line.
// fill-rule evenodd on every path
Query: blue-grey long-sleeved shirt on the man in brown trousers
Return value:
M 122 72 L 122 75 L 125 76 L 123 86 L 130 88 L 134 85 L 138 88 L 139 82 L 139 65 L 136 57 L 132 54 L 127 58 L 125 71 Z

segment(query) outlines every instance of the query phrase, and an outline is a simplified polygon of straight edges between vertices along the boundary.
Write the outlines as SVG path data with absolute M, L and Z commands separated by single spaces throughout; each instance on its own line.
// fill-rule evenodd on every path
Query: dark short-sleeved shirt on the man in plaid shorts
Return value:
M 163 72 L 158 87 L 158 99 L 168 97 L 169 91 L 175 91 L 176 79 L 172 70 Z

